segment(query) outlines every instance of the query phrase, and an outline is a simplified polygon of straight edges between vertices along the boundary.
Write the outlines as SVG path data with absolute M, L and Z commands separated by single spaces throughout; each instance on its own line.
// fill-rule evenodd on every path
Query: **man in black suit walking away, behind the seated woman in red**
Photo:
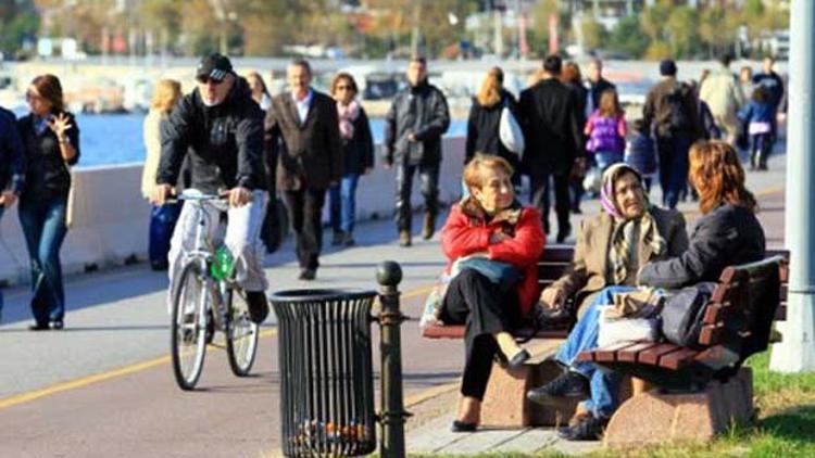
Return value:
M 531 203 L 540 211 L 549 233 L 549 179 L 554 179 L 557 243 L 572 232 L 568 221 L 568 177 L 580 155 L 581 127 L 575 92 L 559 76 L 562 61 L 550 55 L 543 61 L 543 77 L 521 92 L 518 112 L 526 138 L 522 168 L 531 181 Z

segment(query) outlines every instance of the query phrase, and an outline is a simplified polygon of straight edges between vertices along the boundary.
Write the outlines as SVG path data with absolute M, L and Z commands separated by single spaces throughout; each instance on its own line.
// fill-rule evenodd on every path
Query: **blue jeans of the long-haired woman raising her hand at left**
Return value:
M 62 320 L 65 292 L 62 287 L 60 247 L 67 227 L 67 199 L 22 199 L 20 225 L 32 265 L 32 313 L 39 325 Z

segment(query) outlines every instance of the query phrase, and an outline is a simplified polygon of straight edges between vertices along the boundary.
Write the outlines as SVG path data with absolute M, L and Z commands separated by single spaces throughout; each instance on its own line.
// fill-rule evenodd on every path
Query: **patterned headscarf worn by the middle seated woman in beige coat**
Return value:
M 648 199 L 645 199 L 645 212 L 639 218 L 632 219 L 624 218 L 614 203 L 614 181 L 628 171 L 634 173 L 641 181 L 637 170 L 626 164 L 615 164 L 603 173 L 603 185 L 600 188 L 600 205 L 614 220 L 609 251 L 609 269 L 614 284 L 623 284 L 628 278 L 638 240 L 643 245 L 650 245 L 653 253 L 657 255 L 664 253 L 667 247 L 667 242 L 660 236 L 656 221 L 651 216 L 653 207 L 648 203 Z

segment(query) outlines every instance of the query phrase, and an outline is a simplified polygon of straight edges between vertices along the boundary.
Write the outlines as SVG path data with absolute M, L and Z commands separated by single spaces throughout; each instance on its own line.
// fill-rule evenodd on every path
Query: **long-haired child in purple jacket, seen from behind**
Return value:
M 600 96 L 600 107 L 589 116 L 585 133 L 589 138 L 586 150 L 594 154 L 600 170 L 623 162 L 626 118 L 615 90 L 609 89 Z

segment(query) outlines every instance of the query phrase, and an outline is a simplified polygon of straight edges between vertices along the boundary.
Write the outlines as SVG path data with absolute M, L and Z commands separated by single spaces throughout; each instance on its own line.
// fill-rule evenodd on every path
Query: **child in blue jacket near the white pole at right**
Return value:
M 750 103 L 739 112 L 739 118 L 748 124 L 750 135 L 750 169 L 767 169 L 767 157 L 773 150 L 773 115 L 769 91 L 764 86 L 753 90 Z

